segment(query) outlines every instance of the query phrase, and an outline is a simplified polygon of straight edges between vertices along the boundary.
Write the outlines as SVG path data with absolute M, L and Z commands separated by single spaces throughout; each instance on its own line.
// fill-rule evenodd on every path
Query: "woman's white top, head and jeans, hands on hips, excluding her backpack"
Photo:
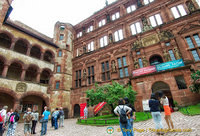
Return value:
M 119 100 L 119 105 L 114 109 L 114 113 L 120 117 L 121 110 L 124 110 L 126 112 L 126 118 L 128 120 L 128 114 L 132 111 L 132 109 L 125 105 L 124 99 Z M 130 122 L 127 121 L 127 123 L 123 124 L 119 121 L 119 125 L 122 131 L 123 136 L 131 136 L 131 128 L 129 128 L 131 125 L 128 124 Z

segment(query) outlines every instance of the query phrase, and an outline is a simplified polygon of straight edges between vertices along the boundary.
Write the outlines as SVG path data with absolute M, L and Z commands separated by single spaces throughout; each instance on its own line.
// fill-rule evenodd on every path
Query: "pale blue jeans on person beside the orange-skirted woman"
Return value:
M 161 120 L 161 113 L 158 112 L 151 112 L 153 117 L 156 129 L 163 129 L 162 120 Z

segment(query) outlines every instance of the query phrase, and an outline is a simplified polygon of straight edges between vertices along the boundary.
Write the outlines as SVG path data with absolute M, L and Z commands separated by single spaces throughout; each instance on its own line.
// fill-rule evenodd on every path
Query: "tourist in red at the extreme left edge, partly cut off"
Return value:
M 3 109 L 0 111 L 0 136 L 3 136 L 6 124 L 6 112 L 8 106 L 3 106 Z

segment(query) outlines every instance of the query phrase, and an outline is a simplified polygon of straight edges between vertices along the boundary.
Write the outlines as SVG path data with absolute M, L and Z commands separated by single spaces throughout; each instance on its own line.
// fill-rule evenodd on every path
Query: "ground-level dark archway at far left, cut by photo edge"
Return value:
M 0 92 L 0 109 L 3 108 L 4 105 L 8 106 L 8 110 L 14 108 L 15 98 L 7 93 Z

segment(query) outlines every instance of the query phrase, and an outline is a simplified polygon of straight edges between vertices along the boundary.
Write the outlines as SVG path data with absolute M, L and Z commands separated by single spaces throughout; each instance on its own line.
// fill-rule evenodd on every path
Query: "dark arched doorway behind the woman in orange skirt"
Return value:
M 168 84 L 162 81 L 155 82 L 152 85 L 152 93 L 155 93 L 156 96 L 158 96 L 158 92 L 163 92 L 168 97 L 169 104 L 171 106 L 174 106 L 172 94 L 171 94 L 170 87 Z

